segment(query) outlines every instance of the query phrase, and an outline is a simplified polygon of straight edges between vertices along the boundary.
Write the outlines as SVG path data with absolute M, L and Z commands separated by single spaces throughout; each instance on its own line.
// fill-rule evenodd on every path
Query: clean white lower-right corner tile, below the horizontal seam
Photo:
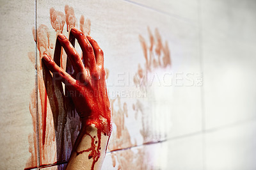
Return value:
M 256 122 L 205 134 L 206 169 L 255 169 Z

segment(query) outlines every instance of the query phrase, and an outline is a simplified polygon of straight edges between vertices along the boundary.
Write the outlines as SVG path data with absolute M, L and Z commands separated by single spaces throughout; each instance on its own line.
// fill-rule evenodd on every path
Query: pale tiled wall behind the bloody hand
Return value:
M 36 4 L 37 27 L 49 28 L 51 50 L 56 32 L 50 8 L 65 14 L 65 4 L 72 6 L 78 28 L 81 15 L 90 19 L 90 35 L 104 51 L 109 70 L 108 90 L 115 94 L 109 95 L 111 100 L 116 91 L 138 90 L 115 83 L 118 73 L 129 75 L 125 77 L 128 83 L 138 64 L 144 68 L 139 35 L 149 45 L 147 27 L 154 38 L 157 28 L 163 42 L 168 42 L 172 66 L 155 68 L 148 75 L 161 78 L 172 73 L 172 86 L 154 82 L 147 87 L 145 98 L 121 97 L 120 105 L 115 99 L 113 114 L 125 123 L 122 127 L 118 119 L 114 121 L 102 169 L 255 169 L 255 1 L 37 0 Z M 36 167 L 36 159 L 29 160 L 29 150 L 36 153 L 29 145 L 33 138 L 28 137 L 35 130 L 29 111 L 31 95 L 35 97 L 35 1 L 1 1 L 1 16 L 0 169 Z M 188 82 L 187 73 L 194 84 Z M 198 78 L 202 77 L 200 86 Z M 40 125 L 40 98 L 38 102 Z M 52 130 L 47 134 L 54 139 L 50 108 L 47 130 Z M 120 137 L 118 128 L 122 128 Z M 144 137 L 143 130 L 148 130 Z M 41 135 L 42 130 L 40 142 Z M 46 149 L 40 145 L 40 169 L 63 169 L 65 165 L 50 165 L 56 165 L 56 143 L 47 144 Z M 67 154 L 58 161 L 68 159 L 71 148 L 65 147 Z

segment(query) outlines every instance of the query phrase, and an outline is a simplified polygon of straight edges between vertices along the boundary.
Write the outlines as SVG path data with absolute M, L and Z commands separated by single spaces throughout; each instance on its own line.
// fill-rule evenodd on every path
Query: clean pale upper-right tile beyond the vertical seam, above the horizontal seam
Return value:
M 205 128 L 255 118 L 255 1 L 201 1 Z

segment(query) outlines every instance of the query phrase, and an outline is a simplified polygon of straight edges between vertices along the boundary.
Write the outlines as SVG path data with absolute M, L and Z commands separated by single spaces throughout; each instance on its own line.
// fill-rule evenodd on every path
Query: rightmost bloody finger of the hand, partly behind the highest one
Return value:
M 102 49 L 100 49 L 98 43 L 95 40 L 93 40 L 93 38 L 91 36 L 86 36 L 86 37 L 93 47 L 97 65 L 103 66 L 104 65 L 104 54 L 103 54 Z

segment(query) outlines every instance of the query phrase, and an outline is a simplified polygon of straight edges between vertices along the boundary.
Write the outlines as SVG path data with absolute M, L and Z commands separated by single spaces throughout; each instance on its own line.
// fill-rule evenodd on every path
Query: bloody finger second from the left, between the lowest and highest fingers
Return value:
M 67 53 L 68 58 L 70 59 L 72 66 L 75 70 L 75 75 L 77 73 L 84 72 L 84 65 L 83 61 L 81 60 L 78 52 L 76 49 L 72 46 L 72 44 L 68 41 L 65 35 L 58 35 L 58 41 L 60 42 L 61 46 Z

